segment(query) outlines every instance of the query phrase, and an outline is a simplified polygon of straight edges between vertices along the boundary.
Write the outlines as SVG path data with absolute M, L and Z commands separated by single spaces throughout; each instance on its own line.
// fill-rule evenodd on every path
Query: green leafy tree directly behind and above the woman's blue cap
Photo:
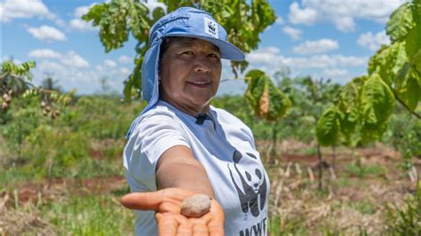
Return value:
M 259 34 L 274 23 L 274 10 L 266 0 L 160 0 L 166 6 L 157 6 L 153 12 L 139 0 L 111 0 L 95 4 L 83 15 L 83 20 L 99 27 L 99 39 L 105 51 L 123 47 L 132 35 L 137 40 L 134 69 L 124 81 L 123 94 L 127 100 L 140 98 L 141 67 L 148 49 L 148 33 L 154 23 L 165 13 L 181 6 L 194 6 L 210 12 L 227 32 L 227 40 L 248 53 L 258 48 Z M 248 66 L 247 61 L 233 61 L 235 75 Z

